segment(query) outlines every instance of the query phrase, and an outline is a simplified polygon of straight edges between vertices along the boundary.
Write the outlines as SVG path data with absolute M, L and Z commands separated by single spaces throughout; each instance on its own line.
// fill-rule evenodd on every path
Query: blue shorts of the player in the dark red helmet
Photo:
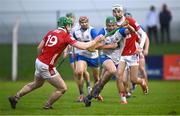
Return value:
M 99 67 L 98 58 L 87 58 L 85 56 L 78 55 L 77 59 L 78 59 L 78 61 L 79 60 L 86 61 L 88 66 L 90 66 L 90 67 L 95 67 L 95 68 Z

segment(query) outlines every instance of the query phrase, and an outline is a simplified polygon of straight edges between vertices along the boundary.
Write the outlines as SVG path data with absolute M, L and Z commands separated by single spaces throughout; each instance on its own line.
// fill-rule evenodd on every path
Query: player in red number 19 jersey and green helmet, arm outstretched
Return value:
M 16 108 L 16 104 L 21 97 L 41 87 L 45 80 L 56 88 L 43 107 L 44 109 L 51 109 L 53 103 L 67 90 L 64 80 L 55 67 L 63 50 L 69 44 L 79 49 L 88 49 L 98 44 L 103 38 L 102 36 L 98 36 L 91 42 L 79 42 L 69 34 L 71 25 L 72 20 L 66 17 L 60 17 L 58 20 L 58 29 L 49 31 L 40 42 L 37 48 L 39 55 L 35 61 L 35 79 L 33 82 L 26 84 L 15 96 L 9 97 L 9 102 L 13 109 Z

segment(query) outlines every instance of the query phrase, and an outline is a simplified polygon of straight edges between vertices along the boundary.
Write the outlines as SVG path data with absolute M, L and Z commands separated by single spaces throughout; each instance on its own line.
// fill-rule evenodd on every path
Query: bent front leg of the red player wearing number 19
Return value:
M 60 74 L 46 80 L 56 88 L 56 90 L 51 94 L 44 106 L 44 109 L 50 109 L 52 108 L 53 103 L 57 101 L 66 92 L 67 86 Z

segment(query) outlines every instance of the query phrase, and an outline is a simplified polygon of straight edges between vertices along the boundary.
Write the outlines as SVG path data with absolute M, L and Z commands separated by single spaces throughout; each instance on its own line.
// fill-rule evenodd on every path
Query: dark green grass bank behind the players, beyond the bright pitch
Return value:
M 180 54 L 180 42 L 171 44 L 150 44 L 149 55 Z M 31 80 L 34 75 L 34 61 L 37 55 L 37 45 L 19 45 L 18 80 Z M 11 79 L 11 45 L 0 44 L 0 80 Z M 62 59 L 62 58 L 61 58 Z M 60 59 L 60 60 L 61 60 Z M 60 61 L 59 60 L 59 61 Z M 58 68 L 65 79 L 72 79 L 72 70 L 68 59 Z

